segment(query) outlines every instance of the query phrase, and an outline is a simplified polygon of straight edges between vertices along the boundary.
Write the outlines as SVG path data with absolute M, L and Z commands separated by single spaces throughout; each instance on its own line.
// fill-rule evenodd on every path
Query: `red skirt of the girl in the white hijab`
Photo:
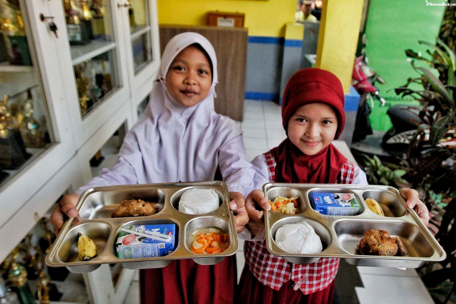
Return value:
M 234 302 L 235 256 L 215 265 L 172 261 L 163 268 L 140 270 L 141 304 L 211 304 Z

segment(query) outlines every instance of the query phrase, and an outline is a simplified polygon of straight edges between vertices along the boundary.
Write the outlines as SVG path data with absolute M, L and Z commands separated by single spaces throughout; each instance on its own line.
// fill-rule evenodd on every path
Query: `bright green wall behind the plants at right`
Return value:
M 391 126 L 386 115 L 389 105 L 418 104 L 410 99 L 400 100 L 394 93 L 394 88 L 417 76 L 404 50 L 424 53 L 427 47 L 418 44 L 419 40 L 435 43 L 444 10 L 445 6 L 428 6 L 425 0 L 370 0 L 366 54 L 369 65 L 387 82 L 378 84 L 378 89 L 388 102 L 386 107 L 375 102 L 370 116 L 374 130 L 387 131 Z M 426 66 L 418 62 L 416 65 Z

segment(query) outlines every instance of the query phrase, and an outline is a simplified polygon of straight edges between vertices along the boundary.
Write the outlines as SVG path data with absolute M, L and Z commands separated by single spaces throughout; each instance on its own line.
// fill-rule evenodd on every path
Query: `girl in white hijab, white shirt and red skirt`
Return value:
M 191 32 L 173 37 L 163 52 L 149 105 L 125 136 L 116 164 L 62 199 L 51 216 L 55 231 L 62 227 L 64 214 L 77 216 L 74 206 L 86 189 L 213 180 L 217 170 L 228 184 L 230 208 L 242 231 L 248 220 L 244 196 L 253 189 L 254 170 L 241 130 L 214 111 L 216 84 L 211 43 Z M 212 266 L 179 260 L 141 270 L 141 303 L 232 303 L 235 269 L 235 260 L 227 257 Z

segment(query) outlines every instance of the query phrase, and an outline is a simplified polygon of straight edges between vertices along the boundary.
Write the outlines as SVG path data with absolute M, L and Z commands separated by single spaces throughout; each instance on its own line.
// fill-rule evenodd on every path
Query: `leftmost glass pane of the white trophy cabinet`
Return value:
M 55 142 L 26 11 L 0 1 L 0 187 Z

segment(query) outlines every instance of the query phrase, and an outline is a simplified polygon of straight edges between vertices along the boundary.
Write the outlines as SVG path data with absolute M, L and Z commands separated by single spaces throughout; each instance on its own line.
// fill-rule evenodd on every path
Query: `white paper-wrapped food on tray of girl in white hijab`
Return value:
M 187 214 L 204 214 L 219 207 L 218 194 L 213 189 L 193 188 L 185 191 L 179 201 L 179 211 Z

